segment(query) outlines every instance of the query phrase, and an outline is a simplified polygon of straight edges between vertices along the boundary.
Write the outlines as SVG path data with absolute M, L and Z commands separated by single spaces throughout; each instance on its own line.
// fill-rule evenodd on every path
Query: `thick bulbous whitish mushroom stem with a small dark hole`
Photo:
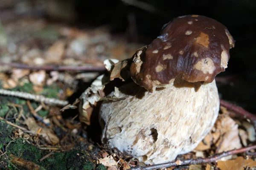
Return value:
M 214 125 L 220 101 L 215 81 L 198 91 L 191 85 L 175 80 L 153 93 L 135 83 L 122 86 L 119 98 L 125 99 L 101 106 L 102 141 L 146 164 L 192 151 Z

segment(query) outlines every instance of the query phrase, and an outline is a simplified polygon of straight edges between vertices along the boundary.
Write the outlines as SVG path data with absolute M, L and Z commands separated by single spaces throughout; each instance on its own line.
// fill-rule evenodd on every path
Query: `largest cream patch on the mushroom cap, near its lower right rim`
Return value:
M 201 59 L 194 65 L 194 69 L 202 71 L 204 74 L 212 74 L 215 71 L 215 65 L 209 57 Z

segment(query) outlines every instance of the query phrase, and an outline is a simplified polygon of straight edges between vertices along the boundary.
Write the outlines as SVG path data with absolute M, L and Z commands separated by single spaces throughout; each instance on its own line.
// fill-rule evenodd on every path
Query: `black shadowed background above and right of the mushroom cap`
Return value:
M 8 0 L 1 1 L 3 4 Z M 145 44 L 156 38 L 163 24 L 175 17 L 186 14 L 211 17 L 226 26 L 236 40 L 235 48 L 230 50 L 228 68 L 217 76 L 221 77 L 220 96 L 256 113 L 256 0 L 27 1 L 33 8 L 24 15 L 45 17 L 79 28 L 107 25 L 117 38 Z M 0 17 L 10 8 L 8 5 L 1 8 L 4 10 L 0 11 Z M 8 17 L 12 19 L 11 15 Z

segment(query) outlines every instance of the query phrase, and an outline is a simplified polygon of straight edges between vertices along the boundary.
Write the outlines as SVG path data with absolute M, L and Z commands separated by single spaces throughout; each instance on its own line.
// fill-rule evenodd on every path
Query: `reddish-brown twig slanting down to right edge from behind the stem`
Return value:
M 234 111 L 238 113 L 239 115 L 243 116 L 245 119 L 249 119 L 250 122 L 253 124 L 254 128 L 256 129 L 256 116 L 253 115 L 252 113 L 244 110 L 243 108 L 233 105 L 230 102 L 226 102 L 224 100 L 220 100 L 221 105 L 227 108 L 230 111 Z

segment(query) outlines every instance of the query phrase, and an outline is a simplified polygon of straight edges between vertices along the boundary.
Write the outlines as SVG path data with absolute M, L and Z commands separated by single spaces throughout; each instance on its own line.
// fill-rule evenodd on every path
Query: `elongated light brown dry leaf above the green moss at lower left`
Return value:
M 27 125 L 28 129 L 33 133 L 39 136 L 42 136 L 48 144 L 57 144 L 59 142 L 58 137 L 53 133 L 53 131 L 47 127 L 40 127 L 35 119 L 32 117 L 27 118 L 24 121 L 24 124 Z M 39 132 L 39 130 L 41 131 Z M 39 133 L 38 133 L 39 132 Z

